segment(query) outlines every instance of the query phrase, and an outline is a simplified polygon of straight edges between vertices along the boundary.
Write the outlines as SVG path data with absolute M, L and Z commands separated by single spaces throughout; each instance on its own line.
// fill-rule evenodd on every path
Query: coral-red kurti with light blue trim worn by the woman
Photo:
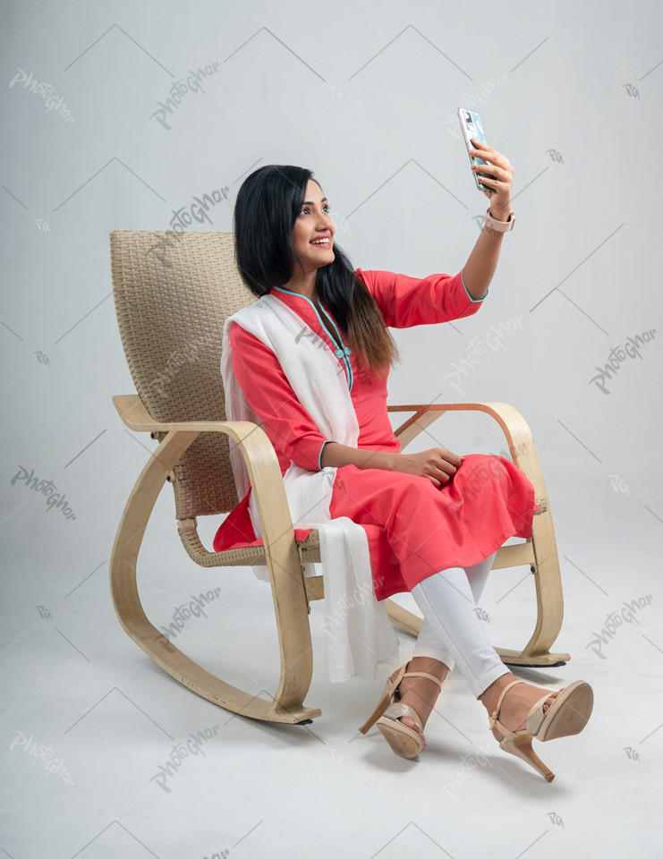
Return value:
M 378 302 L 387 327 L 430 325 L 472 316 L 474 301 L 462 272 L 416 278 L 390 271 L 355 270 Z M 342 335 L 327 305 L 319 315 L 308 298 L 282 287 L 270 292 L 285 302 L 336 353 L 344 365 L 359 424 L 357 447 L 398 453 L 387 412 L 387 374 L 366 370 L 354 354 L 345 355 Z M 303 330 L 303 329 L 302 329 Z M 329 333 L 328 333 L 329 332 Z M 344 342 L 344 341 L 343 341 Z M 233 367 L 251 407 L 274 445 L 281 473 L 291 462 L 320 471 L 324 438 L 294 394 L 276 355 L 239 324 L 230 327 Z M 227 515 L 214 538 L 214 550 L 262 545 L 249 514 L 251 488 Z M 477 564 L 509 537 L 531 537 L 534 487 L 524 472 L 504 456 L 468 454 L 453 478 L 435 486 L 427 477 L 378 468 L 344 465 L 336 469 L 329 515 L 348 516 L 365 530 L 378 600 L 449 566 Z M 295 528 L 305 540 L 310 528 Z

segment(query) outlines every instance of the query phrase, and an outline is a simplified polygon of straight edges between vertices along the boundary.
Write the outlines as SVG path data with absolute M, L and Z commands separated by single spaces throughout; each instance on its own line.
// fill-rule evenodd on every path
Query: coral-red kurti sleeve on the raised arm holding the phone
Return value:
M 479 310 L 482 299 L 475 300 L 463 282 L 463 269 L 457 275 L 410 277 L 393 271 L 355 269 L 373 298 L 378 302 L 387 327 L 408 328 L 463 319 Z

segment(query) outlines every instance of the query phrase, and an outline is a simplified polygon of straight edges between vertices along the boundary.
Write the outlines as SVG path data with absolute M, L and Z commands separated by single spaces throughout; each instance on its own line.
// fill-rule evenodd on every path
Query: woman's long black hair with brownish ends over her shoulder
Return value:
M 259 167 L 240 186 L 234 205 L 235 262 L 242 280 L 258 297 L 288 283 L 293 259 L 302 265 L 293 227 L 310 179 L 319 185 L 306 167 L 270 164 Z M 382 375 L 399 360 L 398 347 L 377 302 L 336 242 L 334 257 L 318 269 L 316 291 L 353 353 Z

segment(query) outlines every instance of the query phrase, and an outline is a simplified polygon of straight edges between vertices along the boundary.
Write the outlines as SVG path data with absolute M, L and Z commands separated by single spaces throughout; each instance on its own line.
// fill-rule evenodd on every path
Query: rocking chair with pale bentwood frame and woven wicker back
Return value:
M 313 654 L 310 601 L 324 599 L 322 575 L 304 576 L 302 564 L 320 562 L 319 532 L 296 540 L 274 447 L 257 424 L 227 421 L 220 372 L 225 319 L 256 297 L 234 261 L 234 234 L 178 234 L 115 230 L 110 234 L 113 293 L 124 353 L 137 394 L 113 397 L 124 424 L 148 432 L 158 447 L 127 500 L 110 559 L 115 612 L 125 632 L 157 665 L 193 692 L 252 719 L 306 723 L 321 710 L 304 704 Z M 202 348 L 200 344 L 202 343 Z M 403 450 L 443 414 L 489 414 L 504 431 L 514 464 L 535 489 L 540 512 L 531 539 L 497 550 L 493 569 L 528 565 L 534 576 L 537 617 L 523 649 L 496 648 L 507 665 L 563 665 L 568 653 L 551 653 L 563 617 L 557 544 L 546 487 L 531 430 L 505 403 L 387 405 L 413 412 L 395 429 Z M 249 472 L 263 546 L 209 552 L 198 516 L 223 515 L 240 500 L 230 464 L 229 438 Z M 267 565 L 276 614 L 280 677 L 273 699 L 242 691 L 201 668 L 146 617 L 136 579 L 140 544 L 166 481 L 174 489 L 177 531 L 199 566 Z M 388 617 L 416 636 L 421 618 L 386 600 Z

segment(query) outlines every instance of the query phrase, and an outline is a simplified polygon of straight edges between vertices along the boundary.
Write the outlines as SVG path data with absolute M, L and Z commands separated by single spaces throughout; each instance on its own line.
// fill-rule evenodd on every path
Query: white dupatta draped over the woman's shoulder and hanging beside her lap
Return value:
M 233 370 L 229 327 L 237 322 L 267 345 L 279 361 L 300 403 L 330 441 L 357 446 L 359 424 L 344 369 L 322 338 L 273 295 L 238 310 L 225 320 L 221 373 L 225 412 L 229 421 L 252 421 L 264 429 L 253 412 Z M 305 330 L 302 336 L 302 328 Z M 249 489 L 249 472 L 242 454 L 230 440 L 230 459 L 239 498 Z M 398 659 L 398 639 L 384 600 L 375 597 L 369 540 L 361 525 L 347 516 L 332 519 L 329 503 L 336 468 L 310 472 L 291 463 L 284 474 L 294 528 L 319 532 L 325 586 L 325 668 L 331 681 L 350 676 L 374 677 L 379 663 Z M 262 537 L 258 513 L 250 496 L 250 514 L 257 538 Z M 316 564 L 302 564 L 305 576 L 316 575 Z M 268 567 L 254 566 L 259 579 L 269 581 Z

